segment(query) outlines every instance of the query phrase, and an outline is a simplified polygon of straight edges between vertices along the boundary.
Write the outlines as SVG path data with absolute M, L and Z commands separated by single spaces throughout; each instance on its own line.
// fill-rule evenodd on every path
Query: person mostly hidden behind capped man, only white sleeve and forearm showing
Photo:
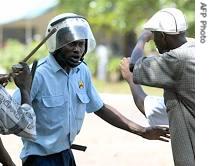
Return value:
M 147 118 L 150 126 L 168 126 L 168 116 L 164 98 L 147 95 L 139 84 L 134 84 L 133 73 L 129 70 L 129 62 L 130 58 L 123 58 L 120 63 L 120 69 L 123 78 L 130 87 L 135 105 Z

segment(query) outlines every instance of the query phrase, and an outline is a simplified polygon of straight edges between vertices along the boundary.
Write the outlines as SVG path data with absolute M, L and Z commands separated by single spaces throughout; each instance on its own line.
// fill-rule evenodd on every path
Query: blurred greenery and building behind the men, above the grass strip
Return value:
M 102 81 L 122 80 L 120 59 L 131 55 L 144 22 L 161 8 L 181 9 L 189 26 L 187 36 L 195 35 L 193 0 L 0 0 L 0 4 L 0 70 L 4 72 L 41 41 L 48 21 L 63 12 L 83 15 L 89 21 L 97 47 L 85 61 L 94 78 Z M 146 54 L 156 54 L 154 43 L 147 45 Z M 42 46 L 30 62 L 46 55 Z

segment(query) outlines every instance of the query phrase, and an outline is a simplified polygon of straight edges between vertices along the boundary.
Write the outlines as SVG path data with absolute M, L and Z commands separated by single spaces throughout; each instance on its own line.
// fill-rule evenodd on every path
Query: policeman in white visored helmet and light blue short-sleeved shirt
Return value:
M 80 132 L 85 112 L 94 112 L 113 126 L 147 139 L 166 136 L 166 128 L 144 128 L 116 109 L 104 104 L 91 82 L 84 55 L 96 42 L 87 20 L 73 13 L 54 17 L 46 35 L 57 31 L 47 41 L 49 55 L 40 60 L 31 89 L 37 116 L 37 139 L 23 141 L 21 153 L 24 166 L 74 166 L 70 149 Z M 18 91 L 14 97 L 18 99 Z M 163 139 L 164 140 L 164 139 Z

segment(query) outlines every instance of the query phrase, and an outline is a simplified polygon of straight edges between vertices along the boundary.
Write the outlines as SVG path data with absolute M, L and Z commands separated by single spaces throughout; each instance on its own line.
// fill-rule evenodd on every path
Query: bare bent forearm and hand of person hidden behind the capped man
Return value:
M 133 100 L 137 106 L 137 108 L 141 111 L 142 114 L 145 116 L 144 110 L 144 99 L 147 96 L 144 90 L 142 89 L 141 85 L 134 84 L 133 82 L 133 73 L 129 71 L 129 62 L 130 58 L 123 58 L 120 63 L 120 69 L 123 78 L 127 81 L 131 93 L 133 96 Z

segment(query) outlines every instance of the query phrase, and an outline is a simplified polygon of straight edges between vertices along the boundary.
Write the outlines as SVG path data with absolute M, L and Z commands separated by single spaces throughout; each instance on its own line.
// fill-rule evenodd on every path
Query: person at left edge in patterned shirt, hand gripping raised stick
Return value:
M 0 134 L 15 134 L 27 139 L 35 139 L 36 117 L 30 99 L 31 73 L 26 63 L 21 65 L 23 69 L 14 71 L 12 77 L 20 88 L 22 105 L 17 104 L 4 88 L 9 81 L 8 75 L 0 74 Z M 0 153 L 0 163 L 3 166 L 15 165 L 4 148 L 1 138 Z

